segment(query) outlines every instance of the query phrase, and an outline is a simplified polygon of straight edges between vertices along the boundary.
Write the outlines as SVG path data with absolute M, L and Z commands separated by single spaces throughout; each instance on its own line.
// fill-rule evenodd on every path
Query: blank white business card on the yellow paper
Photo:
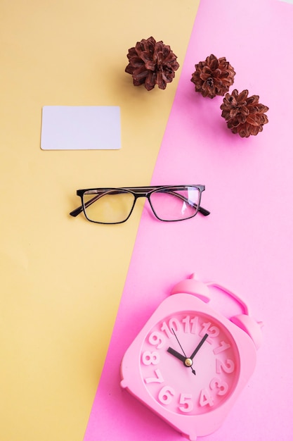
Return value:
M 119 106 L 44 106 L 42 150 L 121 148 Z

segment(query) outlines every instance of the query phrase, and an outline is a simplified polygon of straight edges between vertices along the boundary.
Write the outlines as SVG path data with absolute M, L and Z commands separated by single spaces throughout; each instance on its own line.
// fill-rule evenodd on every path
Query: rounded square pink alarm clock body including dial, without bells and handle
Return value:
M 190 440 L 221 426 L 256 364 L 245 330 L 192 294 L 165 299 L 126 350 L 121 385 Z

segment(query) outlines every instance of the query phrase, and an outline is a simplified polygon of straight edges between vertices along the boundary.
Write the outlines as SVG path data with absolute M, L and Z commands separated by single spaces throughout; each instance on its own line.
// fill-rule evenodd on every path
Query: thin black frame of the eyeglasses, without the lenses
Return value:
M 159 216 L 157 216 L 157 213 L 155 212 L 154 207 L 152 206 L 152 202 L 150 200 L 150 196 L 152 195 L 152 193 L 158 192 L 158 190 L 164 192 L 164 190 L 174 190 L 178 191 L 178 190 L 188 190 L 188 187 L 195 187 L 200 195 L 198 198 L 198 204 L 194 204 L 196 211 L 192 216 L 188 216 L 188 218 L 184 218 L 184 219 L 175 219 L 175 220 L 166 220 L 166 219 L 162 219 L 159 218 Z M 154 213 L 155 217 L 157 219 L 159 219 L 159 221 L 162 222 L 178 222 L 178 221 L 186 221 L 187 219 L 190 218 L 194 218 L 197 214 L 197 212 L 200 212 L 203 216 L 209 216 L 210 211 L 208 211 L 207 209 L 204 209 L 202 206 L 200 206 L 200 201 L 202 198 L 202 192 L 205 190 L 205 186 L 204 185 L 200 185 L 200 184 L 192 184 L 192 185 L 153 185 L 153 186 L 149 186 L 149 187 L 98 187 L 98 188 L 86 188 L 83 190 L 77 190 L 77 196 L 79 196 L 82 200 L 82 205 L 77 207 L 77 209 L 74 209 L 70 212 L 70 216 L 76 217 L 78 216 L 80 213 L 82 213 L 82 211 L 84 212 L 84 216 L 86 217 L 86 219 L 89 222 L 93 222 L 93 223 L 100 223 L 100 224 L 104 224 L 104 225 L 116 225 L 118 223 L 124 223 L 126 221 L 128 221 L 129 217 L 131 216 L 132 211 L 134 211 L 134 206 L 136 204 L 136 200 L 139 197 L 146 197 L 149 201 L 150 207 L 152 209 L 152 212 Z M 113 192 L 114 191 L 114 192 Z M 124 221 L 119 221 L 119 222 L 98 222 L 98 221 L 93 221 L 92 219 L 88 218 L 88 216 L 86 215 L 86 208 L 87 206 L 93 204 L 93 202 L 97 201 L 100 197 L 104 196 L 105 194 L 107 194 L 108 192 L 111 192 L 111 194 L 115 194 L 115 191 L 117 191 L 117 194 L 119 194 L 119 192 L 123 193 L 131 193 L 134 196 L 134 203 L 131 207 L 131 210 L 129 212 L 129 215 L 126 217 L 126 219 L 124 219 Z M 84 194 L 86 192 L 94 192 L 93 194 L 95 194 L 95 196 L 90 199 L 89 201 L 84 202 Z M 168 192 L 168 191 L 167 191 Z M 169 192 L 169 194 L 171 194 L 171 191 Z M 185 200 L 186 202 L 188 202 L 188 204 L 190 204 L 190 201 L 188 201 L 188 199 L 186 199 L 185 197 L 183 197 L 181 194 L 176 193 L 176 197 L 180 197 L 181 199 Z

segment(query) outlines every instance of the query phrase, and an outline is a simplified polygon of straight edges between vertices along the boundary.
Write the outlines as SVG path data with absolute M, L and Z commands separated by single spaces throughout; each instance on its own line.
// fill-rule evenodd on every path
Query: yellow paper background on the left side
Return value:
M 199 0 L 1 0 L 0 438 L 81 441 L 142 206 L 68 213 L 77 188 L 148 185 L 176 92 L 124 73 L 152 35 L 183 64 Z M 41 151 L 45 105 L 120 106 L 120 151 Z M 151 252 L 143 250 L 143 252 Z

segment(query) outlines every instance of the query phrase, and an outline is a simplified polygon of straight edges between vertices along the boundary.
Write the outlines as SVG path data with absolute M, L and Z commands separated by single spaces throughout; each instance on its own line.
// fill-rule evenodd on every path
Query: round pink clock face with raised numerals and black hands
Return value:
M 146 390 L 176 414 L 206 414 L 221 406 L 237 385 L 239 366 L 232 335 L 207 313 L 167 316 L 150 329 L 141 346 Z

